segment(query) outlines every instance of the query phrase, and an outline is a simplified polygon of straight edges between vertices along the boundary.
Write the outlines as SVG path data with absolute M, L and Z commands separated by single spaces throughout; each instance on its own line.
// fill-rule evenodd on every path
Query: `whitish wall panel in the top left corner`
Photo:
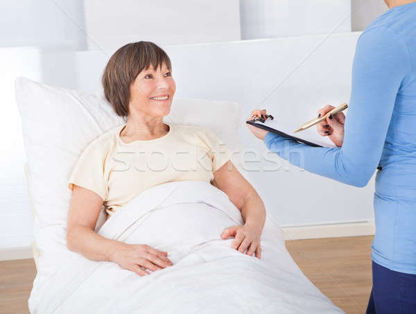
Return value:
M 3 0 L 0 47 L 87 48 L 83 0 Z

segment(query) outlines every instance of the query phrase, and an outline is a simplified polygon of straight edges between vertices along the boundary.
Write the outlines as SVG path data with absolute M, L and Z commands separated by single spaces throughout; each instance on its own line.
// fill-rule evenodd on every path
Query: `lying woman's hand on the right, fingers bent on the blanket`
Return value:
M 239 250 L 241 253 L 244 253 L 245 250 L 248 250 L 246 254 L 251 256 L 255 252 L 256 257 L 260 259 L 260 228 L 248 225 L 235 225 L 225 228 L 223 234 L 221 234 L 221 238 L 223 239 L 229 238 L 229 236 L 235 237 L 231 246 L 233 249 Z

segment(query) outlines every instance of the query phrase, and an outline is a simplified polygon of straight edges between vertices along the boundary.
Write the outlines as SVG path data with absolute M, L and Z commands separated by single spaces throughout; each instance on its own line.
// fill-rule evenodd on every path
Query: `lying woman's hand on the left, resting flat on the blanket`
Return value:
M 110 254 L 110 261 L 119 264 L 122 268 L 136 272 L 140 276 L 149 274 L 146 270 L 161 270 L 173 265 L 167 258 L 168 252 L 162 252 L 146 244 L 121 243 Z

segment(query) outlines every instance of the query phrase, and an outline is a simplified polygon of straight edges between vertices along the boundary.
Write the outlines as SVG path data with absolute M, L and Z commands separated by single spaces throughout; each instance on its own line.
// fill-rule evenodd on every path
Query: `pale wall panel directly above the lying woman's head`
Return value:
M 193 44 L 241 38 L 239 0 L 88 0 L 84 6 L 89 49 L 140 40 Z

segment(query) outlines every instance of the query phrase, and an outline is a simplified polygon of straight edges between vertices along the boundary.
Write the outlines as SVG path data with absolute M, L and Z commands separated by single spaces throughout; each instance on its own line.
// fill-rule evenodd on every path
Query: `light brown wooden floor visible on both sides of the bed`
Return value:
M 302 272 L 347 314 L 363 314 L 372 286 L 372 236 L 286 241 Z M 0 261 L 0 314 L 29 313 L 33 259 Z

